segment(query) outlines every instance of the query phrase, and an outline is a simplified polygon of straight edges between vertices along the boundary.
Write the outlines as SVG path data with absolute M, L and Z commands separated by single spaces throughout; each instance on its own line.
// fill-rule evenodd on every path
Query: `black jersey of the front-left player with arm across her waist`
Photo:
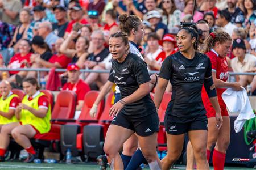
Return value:
M 112 59 L 109 81 L 118 85 L 121 99 L 123 99 L 133 94 L 139 85 L 150 81 L 147 64 L 133 53 L 129 53 L 122 63 Z M 142 99 L 126 104 L 121 112 L 127 116 L 139 118 L 156 112 L 156 108 L 150 94 L 147 94 Z

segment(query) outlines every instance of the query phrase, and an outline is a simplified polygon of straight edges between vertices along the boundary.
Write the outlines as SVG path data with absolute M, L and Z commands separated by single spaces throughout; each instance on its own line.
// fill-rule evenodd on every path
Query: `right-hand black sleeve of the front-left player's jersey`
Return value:
M 149 82 L 150 75 L 148 74 L 147 64 L 142 59 L 136 59 L 134 61 L 134 75 L 139 85 Z

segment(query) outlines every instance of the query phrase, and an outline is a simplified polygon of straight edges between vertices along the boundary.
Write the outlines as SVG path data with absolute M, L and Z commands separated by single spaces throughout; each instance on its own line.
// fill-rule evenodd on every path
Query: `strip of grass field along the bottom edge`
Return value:
M 1 170 L 10 170 L 10 169 L 61 169 L 61 170 L 98 170 L 100 167 L 96 163 L 86 163 L 86 164 L 65 164 L 65 163 L 58 163 L 58 164 L 48 164 L 48 163 L 22 163 L 22 162 L 1 162 L 0 163 L 0 169 Z M 149 169 L 149 168 L 143 168 L 143 169 Z M 179 165 L 175 167 L 174 169 L 185 169 L 184 165 Z M 213 169 L 213 167 L 210 167 L 210 169 Z M 245 167 L 225 167 L 225 170 L 249 170 L 251 168 L 245 168 Z

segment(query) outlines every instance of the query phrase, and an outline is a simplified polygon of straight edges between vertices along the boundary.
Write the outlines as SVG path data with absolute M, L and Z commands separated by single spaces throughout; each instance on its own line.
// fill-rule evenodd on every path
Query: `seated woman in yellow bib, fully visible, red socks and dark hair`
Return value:
M 2 126 L 0 132 L 0 162 L 4 161 L 6 148 L 9 146 L 10 135 L 14 140 L 28 152 L 24 162 L 33 162 L 36 152 L 31 145 L 30 139 L 36 134 L 47 133 L 51 129 L 51 105 L 42 92 L 35 78 L 26 78 L 22 83 L 26 92 L 22 103 L 19 103 L 15 116 L 19 122 Z

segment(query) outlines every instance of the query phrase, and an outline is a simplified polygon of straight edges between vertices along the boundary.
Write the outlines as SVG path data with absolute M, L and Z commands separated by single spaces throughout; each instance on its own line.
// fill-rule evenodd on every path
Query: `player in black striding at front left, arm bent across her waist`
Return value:
M 112 160 L 114 169 L 124 169 L 118 151 L 131 135 L 137 133 L 150 169 L 160 169 L 156 154 L 159 119 L 150 97 L 146 63 L 129 52 L 128 37 L 123 32 L 110 36 L 109 51 L 113 59 L 108 82 L 118 84 L 121 100 L 110 108 L 110 116 L 114 118 L 106 134 L 104 151 Z

